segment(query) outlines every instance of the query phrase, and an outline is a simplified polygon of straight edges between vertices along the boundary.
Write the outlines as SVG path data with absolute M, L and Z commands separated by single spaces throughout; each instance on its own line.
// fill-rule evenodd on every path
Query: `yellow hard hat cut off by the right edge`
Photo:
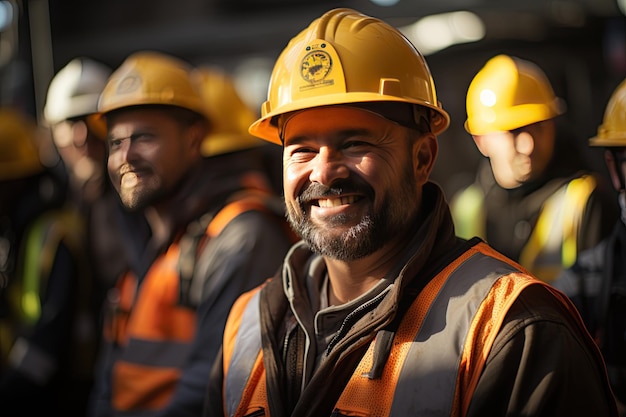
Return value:
M 626 146 L 626 80 L 613 91 L 598 134 L 589 139 L 589 146 Z

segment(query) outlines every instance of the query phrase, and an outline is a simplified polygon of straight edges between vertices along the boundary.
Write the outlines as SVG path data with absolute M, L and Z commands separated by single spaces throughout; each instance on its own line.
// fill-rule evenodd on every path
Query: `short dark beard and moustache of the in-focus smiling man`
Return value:
M 407 233 L 419 210 L 413 173 L 406 170 L 395 191 L 385 190 L 379 207 L 374 207 L 374 191 L 362 181 L 352 178 L 338 181 L 330 187 L 309 185 L 296 199 L 295 205 L 287 205 L 289 224 L 309 248 L 322 256 L 352 261 L 371 255 L 392 239 Z M 340 227 L 354 223 L 352 216 L 340 214 L 328 218 L 325 225 L 315 224 L 306 210 L 305 202 L 324 196 L 342 193 L 359 193 L 372 202 L 368 212 L 347 230 L 337 233 Z

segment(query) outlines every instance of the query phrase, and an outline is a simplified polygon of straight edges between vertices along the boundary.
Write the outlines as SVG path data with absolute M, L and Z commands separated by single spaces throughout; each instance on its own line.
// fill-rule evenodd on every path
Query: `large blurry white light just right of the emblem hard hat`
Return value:
M 458 11 L 426 16 L 399 28 L 423 55 L 449 46 L 476 42 L 485 36 L 485 24 L 474 13 Z

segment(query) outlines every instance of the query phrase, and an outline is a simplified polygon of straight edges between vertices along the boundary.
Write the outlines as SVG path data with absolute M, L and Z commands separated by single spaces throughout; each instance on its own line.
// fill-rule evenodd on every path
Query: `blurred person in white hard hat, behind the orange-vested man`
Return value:
M 98 98 L 111 69 L 99 61 L 77 57 L 54 76 L 48 87 L 44 118 L 69 181 L 69 204 L 85 222 L 93 281 L 93 306 L 128 269 L 145 243 L 147 225 L 140 213 L 122 205 L 108 178 L 106 125 L 97 115 Z M 133 255 L 126 255 L 127 253 Z

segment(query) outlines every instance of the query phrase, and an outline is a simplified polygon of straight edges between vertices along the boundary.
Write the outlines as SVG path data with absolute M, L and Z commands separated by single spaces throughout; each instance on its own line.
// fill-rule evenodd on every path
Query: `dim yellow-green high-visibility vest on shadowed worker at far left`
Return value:
M 76 377 L 88 376 L 85 374 L 91 371 L 95 360 L 95 328 L 85 328 L 89 323 L 95 326 L 90 307 L 93 276 L 84 249 L 85 233 L 84 218 L 71 208 L 50 210 L 40 215 L 24 232 L 16 273 L 6 289 L 10 314 L 0 320 L 2 362 L 10 361 L 11 350 L 16 342 L 20 343 L 27 360 L 19 364 L 11 363 L 11 366 L 19 367 L 22 373 L 40 384 L 47 383 L 50 372 L 58 369 L 57 358 L 52 352 L 32 345 L 28 335 L 35 329 L 42 315 L 42 299 L 48 289 L 50 274 L 61 245 L 67 248 L 77 268 L 71 285 L 74 289 L 71 302 L 75 307 L 73 329 L 76 331 L 72 333 L 69 344 L 72 350 L 69 355 L 72 357 L 69 364 L 71 369 L 65 371 Z

